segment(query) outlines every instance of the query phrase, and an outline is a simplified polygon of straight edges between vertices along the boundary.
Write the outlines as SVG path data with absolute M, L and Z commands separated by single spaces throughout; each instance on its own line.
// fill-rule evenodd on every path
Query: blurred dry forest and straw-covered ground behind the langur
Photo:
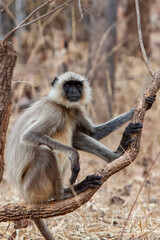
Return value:
M 0 39 L 43 2 L 0 0 Z M 52 2 L 36 17 L 64 2 Z M 6 3 L 9 5 L 3 8 Z M 160 0 L 139 0 L 139 3 L 144 46 L 157 71 L 160 68 Z M 12 81 L 9 130 L 28 105 L 48 93 L 52 79 L 63 72 L 74 71 L 88 77 L 93 89 L 88 114 L 95 123 L 107 121 L 134 107 L 151 81 L 141 57 L 134 0 L 82 0 L 81 5 L 82 9 L 79 9 L 78 2 L 74 1 L 63 10 L 20 29 L 12 37 L 18 61 Z M 159 152 L 159 101 L 157 96 L 154 106 L 147 112 L 137 160 L 112 176 L 80 209 L 47 220 L 57 239 L 120 237 L 147 170 Z M 123 130 L 124 127 L 102 142 L 116 149 Z M 79 181 L 105 164 L 95 156 L 81 153 Z M 159 164 L 160 160 L 145 183 L 126 226 L 124 239 L 160 239 Z M 0 189 L 2 204 L 23 201 L 6 173 Z M 16 228 L 14 223 L 1 223 L 0 239 L 42 239 L 33 223 L 28 228 Z M 142 235 L 145 236 L 138 238 Z

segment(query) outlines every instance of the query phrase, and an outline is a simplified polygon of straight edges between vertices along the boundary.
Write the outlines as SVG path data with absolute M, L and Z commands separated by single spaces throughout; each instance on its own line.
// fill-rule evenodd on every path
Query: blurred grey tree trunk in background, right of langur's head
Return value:
M 99 120 L 113 115 L 117 0 L 94 0 L 90 25 L 90 63 L 88 76 L 93 82 L 94 105 Z M 99 98 L 99 96 L 102 96 Z

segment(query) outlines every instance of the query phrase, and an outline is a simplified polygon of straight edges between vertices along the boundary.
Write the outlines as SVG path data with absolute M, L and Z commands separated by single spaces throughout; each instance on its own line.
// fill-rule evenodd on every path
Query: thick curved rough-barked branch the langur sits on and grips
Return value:
M 154 96 L 160 89 L 160 72 L 154 75 L 153 81 L 138 100 L 135 114 L 133 116 L 134 122 L 143 123 L 147 105 L 145 98 L 148 96 Z M 126 153 L 110 164 L 106 165 L 104 169 L 97 172 L 102 176 L 102 183 L 104 183 L 113 174 L 124 169 L 130 165 L 137 157 L 140 148 L 141 132 L 135 134 L 135 142 L 132 143 L 130 149 Z M 81 205 L 86 203 L 98 189 L 88 189 L 87 191 L 63 201 L 49 202 L 45 204 L 8 204 L 0 207 L 0 222 L 13 221 L 21 219 L 33 219 L 36 217 L 48 218 L 70 213 Z

